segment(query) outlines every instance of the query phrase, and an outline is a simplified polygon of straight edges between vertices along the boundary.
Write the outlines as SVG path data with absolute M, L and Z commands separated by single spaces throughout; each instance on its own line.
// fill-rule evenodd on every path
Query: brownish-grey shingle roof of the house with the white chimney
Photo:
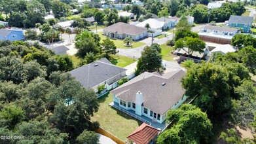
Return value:
M 124 101 L 136 103 L 136 93 L 140 91 L 143 95 L 143 106 L 163 115 L 182 98 L 185 90 L 181 88 L 180 81 L 184 75 L 182 70 L 170 71 L 164 75 L 145 72 L 111 93 Z M 164 86 L 163 82 L 166 83 Z

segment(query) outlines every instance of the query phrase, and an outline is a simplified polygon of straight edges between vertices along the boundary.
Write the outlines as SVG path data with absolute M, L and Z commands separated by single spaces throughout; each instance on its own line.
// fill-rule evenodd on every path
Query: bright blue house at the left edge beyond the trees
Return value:
M 0 40 L 22 41 L 24 37 L 22 29 L 0 29 Z

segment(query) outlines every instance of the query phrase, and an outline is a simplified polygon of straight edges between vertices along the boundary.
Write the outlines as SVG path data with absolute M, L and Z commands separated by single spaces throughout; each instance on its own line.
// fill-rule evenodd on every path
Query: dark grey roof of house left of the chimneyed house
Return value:
M 69 71 L 69 73 L 81 82 L 81 84 L 86 88 L 92 88 L 97 86 L 101 82 L 107 81 L 111 77 L 119 75 L 126 69 L 113 65 L 106 58 L 101 58 L 96 62 L 83 65 L 77 69 Z

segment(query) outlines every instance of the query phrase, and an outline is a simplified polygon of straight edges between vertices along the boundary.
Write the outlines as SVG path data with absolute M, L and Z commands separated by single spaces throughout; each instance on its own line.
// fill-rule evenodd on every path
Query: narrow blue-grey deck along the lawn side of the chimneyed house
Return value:
M 134 117 L 138 120 L 141 120 L 142 122 L 145 122 L 146 124 L 153 126 L 154 128 L 160 128 L 161 130 L 164 130 L 164 128 L 166 128 L 166 126 L 168 126 L 168 124 L 166 124 L 166 121 L 162 122 L 162 124 L 160 124 L 158 122 L 154 122 L 151 118 L 145 117 L 143 115 L 141 115 L 141 116 L 137 115 L 135 113 L 135 111 L 126 110 L 126 109 L 123 109 L 122 107 L 119 107 L 119 103 L 116 103 L 114 101 L 109 103 L 109 105 L 111 107 L 115 107 L 115 109 L 119 109 L 119 111 L 122 111 L 123 113 L 126 113 L 127 115 L 130 115 L 131 117 Z

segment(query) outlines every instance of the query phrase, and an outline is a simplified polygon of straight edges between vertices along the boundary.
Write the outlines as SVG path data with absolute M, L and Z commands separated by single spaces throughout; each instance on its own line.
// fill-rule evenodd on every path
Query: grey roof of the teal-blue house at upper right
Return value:
M 247 24 L 251 25 L 253 23 L 253 17 L 252 16 L 230 16 L 229 23 L 235 23 L 235 24 Z

